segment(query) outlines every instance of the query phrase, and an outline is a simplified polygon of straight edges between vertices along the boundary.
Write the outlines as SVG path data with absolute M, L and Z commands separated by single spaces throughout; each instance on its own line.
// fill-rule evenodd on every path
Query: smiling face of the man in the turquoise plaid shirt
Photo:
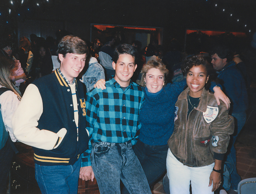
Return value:
M 122 87 L 127 87 L 130 84 L 130 79 L 137 68 L 135 59 L 132 55 L 121 54 L 116 63 L 112 63 L 113 69 L 116 70 L 114 79 Z

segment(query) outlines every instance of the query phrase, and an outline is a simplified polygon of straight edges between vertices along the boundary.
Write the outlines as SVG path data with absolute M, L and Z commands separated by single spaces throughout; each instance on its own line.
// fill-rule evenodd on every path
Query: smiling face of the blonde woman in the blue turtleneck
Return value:
M 157 68 L 151 68 L 145 75 L 144 81 L 148 92 L 157 93 L 164 86 L 164 73 Z

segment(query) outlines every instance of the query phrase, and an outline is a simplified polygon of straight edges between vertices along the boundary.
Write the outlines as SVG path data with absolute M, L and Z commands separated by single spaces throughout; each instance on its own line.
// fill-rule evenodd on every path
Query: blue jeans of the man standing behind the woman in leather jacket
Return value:
M 235 119 L 235 131 L 234 134 L 230 136 L 230 142 L 228 146 L 228 155 L 227 160 L 224 163 L 224 172 L 223 172 L 223 187 L 225 190 L 237 190 L 238 183 L 241 181 L 241 177 L 237 174 L 236 171 L 236 150 L 234 147 L 236 137 L 242 130 L 245 121 L 245 113 L 233 113 L 232 116 Z M 229 176 L 229 177 L 228 177 Z M 230 179 L 230 183 L 229 183 Z M 231 187 L 230 187 L 231 184 Z

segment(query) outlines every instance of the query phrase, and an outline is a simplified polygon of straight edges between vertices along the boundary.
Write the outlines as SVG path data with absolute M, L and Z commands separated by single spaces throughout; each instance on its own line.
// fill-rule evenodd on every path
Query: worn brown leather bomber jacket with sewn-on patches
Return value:
M 203 167 L 214 162 L 213 153 L 226 153 L 234 118 L 226 105 L 220 105 L 205 89 L 198 106 L 188 115 L 188 91 L 185 89 L 175 103 L 174 131 L 168 146 L 174 156 L 189 167 Z

